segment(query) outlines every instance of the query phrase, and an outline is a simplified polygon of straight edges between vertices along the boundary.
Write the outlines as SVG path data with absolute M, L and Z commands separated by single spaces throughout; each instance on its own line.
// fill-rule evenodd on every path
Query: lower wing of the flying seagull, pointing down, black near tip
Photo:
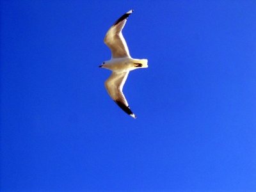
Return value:
M 127 79 L 128 72 L 112 72 L 111 76 L 105 81 L 106 89 L 110 97 L 118 104 L 118 106 L 125 111 L 128 115 L 133 118 L 136 116 L 132 113 L 129 108 L 128 102 L 124 97 L 123 87 Z

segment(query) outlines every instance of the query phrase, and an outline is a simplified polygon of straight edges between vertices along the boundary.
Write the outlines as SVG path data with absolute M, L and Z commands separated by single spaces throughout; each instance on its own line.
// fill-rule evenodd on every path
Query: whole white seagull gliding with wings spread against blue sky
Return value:
M 111 76 L 105 81 L 106 90 L 109 96 L 118 104 L 118 106 L 128 115 L 136 118 L 132 113 L 127 100 L 124 97 L 123 87 L 130 70 L 136 68 L 147 68 L 148 60 L 138 60 L 131 58 L 129 49 L 122 35 L 122 29 L 127 18 L 133 10 L 120 17 L 108 30 L 104 38 L 104 43 L 111 49 L 111 60 L 104 61 L 99 67 L 107 68 L 112 71 Z

